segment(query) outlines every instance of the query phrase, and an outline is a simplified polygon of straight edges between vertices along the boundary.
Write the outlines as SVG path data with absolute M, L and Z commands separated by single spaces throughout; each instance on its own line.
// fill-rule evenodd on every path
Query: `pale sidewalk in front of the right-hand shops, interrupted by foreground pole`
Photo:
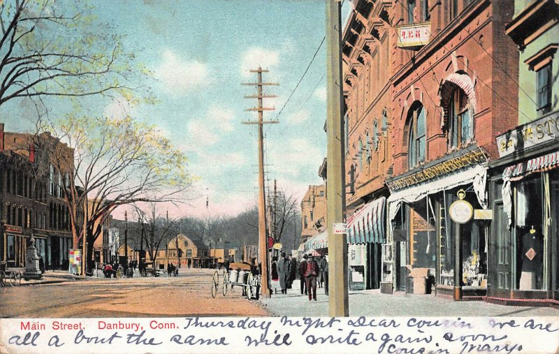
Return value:
M 274 285 L 272 284 L 272 287 Z M 270 316 L 328 316 L 328 296 L 317 288 L 317 301 L 300 295 L 299 280 L 287 295 L 273 294 L 261 298 L 263 309 Z M 483 301 L 456 302 L 435 295 L 381 294 L 377 290 L 349 292 L 349 316 L 559 316 L 558 309 L 549 307 L 513 307 Z

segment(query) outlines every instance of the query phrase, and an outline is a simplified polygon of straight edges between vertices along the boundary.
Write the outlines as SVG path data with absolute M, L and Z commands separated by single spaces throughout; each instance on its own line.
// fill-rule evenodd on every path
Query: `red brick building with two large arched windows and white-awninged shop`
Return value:
M 408 270 L 421 268 L 437 295 L 486 295 L 491 221 L 472 216 L 488 209 L 495 136 L 516 125 L 510 78 L 518 75 L 518 50 L 504 33 L 513 10 L 511 0 L 407 0 L 391 8 L 396 290 L 409 290 Z

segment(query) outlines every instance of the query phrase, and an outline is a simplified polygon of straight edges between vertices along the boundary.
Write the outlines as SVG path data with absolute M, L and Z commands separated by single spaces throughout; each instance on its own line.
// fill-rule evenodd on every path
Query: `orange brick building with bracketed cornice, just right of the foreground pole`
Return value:
M 350 288 L 379 288 L 382 280 L 392 165 L 392 6 L 393 1 L 356 1 L 342 35 Z

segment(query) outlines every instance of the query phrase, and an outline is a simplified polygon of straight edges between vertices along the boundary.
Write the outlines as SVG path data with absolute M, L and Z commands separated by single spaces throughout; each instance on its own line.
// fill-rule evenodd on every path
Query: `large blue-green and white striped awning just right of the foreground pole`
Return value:
M 375 199 L 363 205 L 347 221 L 347 243 L 367 244 L 383 243 L 384 208 L 386 198 Z

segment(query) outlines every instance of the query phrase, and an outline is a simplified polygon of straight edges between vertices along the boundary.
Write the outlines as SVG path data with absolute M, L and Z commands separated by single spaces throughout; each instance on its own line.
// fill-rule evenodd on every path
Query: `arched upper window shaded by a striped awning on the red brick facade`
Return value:
M 449 149 L 460 149 L 472 139 L 472 115 L 467 95 L 458 86 L 453 91 L 448 103 Z

